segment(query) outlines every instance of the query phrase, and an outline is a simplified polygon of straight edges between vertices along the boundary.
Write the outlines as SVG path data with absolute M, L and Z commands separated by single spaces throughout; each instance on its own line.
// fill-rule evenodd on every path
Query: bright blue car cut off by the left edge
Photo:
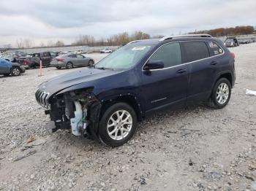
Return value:
M 25 68 L 20 66 L 19 63 L 12 63 L 5 59 L 0 58 L 0 74 L 4 76 L 19 76 L 21 73 L 25 72 Z

